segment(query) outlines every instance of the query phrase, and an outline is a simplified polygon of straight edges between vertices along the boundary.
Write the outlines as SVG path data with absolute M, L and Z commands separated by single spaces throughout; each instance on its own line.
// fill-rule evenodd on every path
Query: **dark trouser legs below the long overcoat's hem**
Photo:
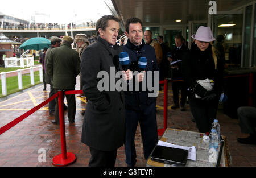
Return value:
M 101 151 L 90 147 L 89 167 L 114 167 L 117 159 L 117 150 Z

